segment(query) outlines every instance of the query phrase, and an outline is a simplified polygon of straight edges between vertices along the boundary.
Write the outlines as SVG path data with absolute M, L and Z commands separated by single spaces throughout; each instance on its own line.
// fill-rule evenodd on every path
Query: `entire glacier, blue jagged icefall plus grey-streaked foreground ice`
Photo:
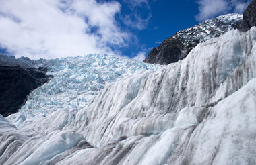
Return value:
M 135 62 L 139 72 L 131 60 L 96 56 L 90 64 L 105 71 L 88 86 L 86 60 L 48 62 L 54 78 L 0 117 L 0 164 L 255 164 L 256 27 L 167 66 Z

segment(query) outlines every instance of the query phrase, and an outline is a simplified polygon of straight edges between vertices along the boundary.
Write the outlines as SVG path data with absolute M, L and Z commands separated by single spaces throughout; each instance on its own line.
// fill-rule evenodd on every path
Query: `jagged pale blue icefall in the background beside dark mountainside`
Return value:
M 11 64 L 28 63 L 18 58 Z M 24 64 L 25 63 L 25 64 Z M 104 85 L 120 80 L 125 76 L 144 70 L 157 70 L 160 65 L 144 64 L 119 56 L 89 54 L 54 60 L 33 60 L 30 67 L 44 66 L 53 75 L 49 83 L 38 87 L 30 95 L 18 114 L 12 118 L 16 125 L 29 117 L 45 117 L 59 109 L 77 113 L 85 107 Z

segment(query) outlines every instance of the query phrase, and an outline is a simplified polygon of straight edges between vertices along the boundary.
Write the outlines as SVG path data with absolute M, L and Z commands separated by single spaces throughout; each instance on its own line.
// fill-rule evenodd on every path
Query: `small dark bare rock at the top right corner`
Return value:
M 253 26 L 256 26 L 256 0 L 253 0 L 243 13 L 243 20 L 238 29 L 245 32 Z

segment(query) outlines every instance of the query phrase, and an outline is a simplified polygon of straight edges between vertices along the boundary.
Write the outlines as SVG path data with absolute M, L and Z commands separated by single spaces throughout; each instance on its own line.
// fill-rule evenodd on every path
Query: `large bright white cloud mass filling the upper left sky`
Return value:
M 115 22 L 120 9 L 116 1 L 0 1 L 0 46 L 33 59 L 113 54 L 129 40 Z

